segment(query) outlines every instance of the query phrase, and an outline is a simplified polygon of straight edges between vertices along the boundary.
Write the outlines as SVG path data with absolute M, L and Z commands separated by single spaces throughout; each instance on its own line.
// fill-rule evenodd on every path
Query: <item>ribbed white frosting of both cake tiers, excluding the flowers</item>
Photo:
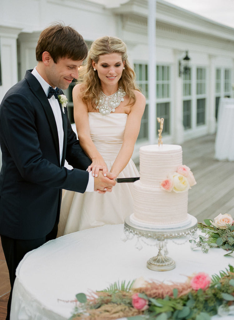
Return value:
M 152 225 L 168 225 L 187 219 L 188 191 L 175 193 L 161 189 L 160 182 L 182 165 L 178 145 L 149 145 L 140 148 L 140 180 L 134 182 L 132 219 Z M 130 217 L 131 220 L 131 217 Z

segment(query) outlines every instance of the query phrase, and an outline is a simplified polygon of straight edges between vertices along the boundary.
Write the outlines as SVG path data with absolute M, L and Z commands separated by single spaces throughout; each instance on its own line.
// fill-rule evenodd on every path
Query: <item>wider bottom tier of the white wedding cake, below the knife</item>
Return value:
M 187 219 L 188 191 L 175 193 L 134 182 L 135 221 L 152 225 L 171 225 Z

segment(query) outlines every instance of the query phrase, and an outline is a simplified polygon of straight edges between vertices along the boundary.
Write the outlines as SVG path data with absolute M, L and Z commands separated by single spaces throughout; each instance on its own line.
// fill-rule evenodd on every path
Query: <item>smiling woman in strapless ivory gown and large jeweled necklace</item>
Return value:
M 126 45 L 116 37 L 93 42 L 73 89 L 74 120 L 80 144 L 92 160 L 88 171 L 137 177 L 131 156 L 140 130 L 145 97 L 135 84 Z M 58 236 L 104 224 L 123 223 L 133 212 L 133 185 L 117 183 L 105 195 L 64 191 Z

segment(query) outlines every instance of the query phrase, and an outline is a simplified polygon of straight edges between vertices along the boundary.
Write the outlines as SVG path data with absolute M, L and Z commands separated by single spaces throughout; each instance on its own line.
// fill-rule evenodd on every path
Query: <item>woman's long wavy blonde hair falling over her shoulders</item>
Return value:
M 126 44 L 117 37 L 103 36 L 95 40 L 88 52 L 87 62 L 79 72 L 78 83 L 82 83 L 82 100 L 88 106 L 92 107 L 99 102 L 99 94 L 101 92 L 101 82 L 97 72 L 93 70 L 92 60 L 98 62 L 99 56 L 110 53 L 118 53 L 122 56 L 122 61 L 125 61 L 124 70 L 119 80 L 121 87 L 129 97 L 130 105 L 136 101 L 134 90 L 140 91 L 136 85 L 136 75 L 130 67 Z

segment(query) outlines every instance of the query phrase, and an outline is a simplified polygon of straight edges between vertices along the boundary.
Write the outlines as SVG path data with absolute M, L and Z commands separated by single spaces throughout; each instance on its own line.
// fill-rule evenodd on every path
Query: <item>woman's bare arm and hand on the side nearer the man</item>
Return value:
M 103 170 L 103 174 L 107 174 L 107 167 L 103 157 L 97 151 L 91 136 L 88 118 L 88 108 L 82 101 L 82 84 L 77 84 L 72 92 L 74 103 L 74 120 L 80 145 L 87 156 L 92 160 L 92 164 L 88 167 L 88 171 L 92 170 L 92 175 L 97 177 L 99 170 Z

